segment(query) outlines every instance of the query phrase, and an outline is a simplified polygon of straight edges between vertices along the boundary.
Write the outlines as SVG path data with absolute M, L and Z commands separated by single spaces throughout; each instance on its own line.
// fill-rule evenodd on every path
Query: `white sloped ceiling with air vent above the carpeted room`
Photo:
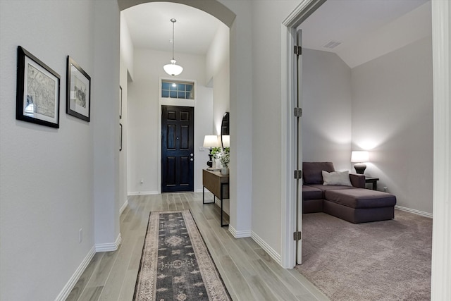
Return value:
M 431 3 L 328 0 L 298 28 L 304 48 L 334 52 L 354 68 L 431 35 Z

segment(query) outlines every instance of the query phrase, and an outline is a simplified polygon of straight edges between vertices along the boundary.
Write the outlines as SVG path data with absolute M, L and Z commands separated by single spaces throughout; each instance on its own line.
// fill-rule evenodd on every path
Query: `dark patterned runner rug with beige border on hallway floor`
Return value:
M 133 300 L 231 300 L 189 210 L 151 212 Z

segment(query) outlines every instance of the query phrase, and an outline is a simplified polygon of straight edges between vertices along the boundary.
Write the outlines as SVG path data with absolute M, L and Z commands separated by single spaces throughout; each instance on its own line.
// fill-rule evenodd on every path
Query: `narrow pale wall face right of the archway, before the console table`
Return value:
M 242 237 L 251 235 L 252 224 L 252 5 L 219 2 L 236 14 L 230 26 L 229 231 Z

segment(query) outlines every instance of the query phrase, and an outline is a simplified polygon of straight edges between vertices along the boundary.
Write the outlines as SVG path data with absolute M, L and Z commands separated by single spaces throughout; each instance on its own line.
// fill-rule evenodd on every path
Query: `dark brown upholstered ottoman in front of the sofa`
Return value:
M 351 223 L 383 221 L 395 217 L 395 195 L 364 188 L 327 190 L 323 211 Z

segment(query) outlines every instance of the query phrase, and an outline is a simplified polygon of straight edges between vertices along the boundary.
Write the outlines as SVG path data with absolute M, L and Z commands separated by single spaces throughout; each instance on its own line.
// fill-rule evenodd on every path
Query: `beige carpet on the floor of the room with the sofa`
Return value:
M 296 269 L 330 300 L 430 300 L 432 219 L 395 210 L 395 219 L 353 224 L 304 214 Z

